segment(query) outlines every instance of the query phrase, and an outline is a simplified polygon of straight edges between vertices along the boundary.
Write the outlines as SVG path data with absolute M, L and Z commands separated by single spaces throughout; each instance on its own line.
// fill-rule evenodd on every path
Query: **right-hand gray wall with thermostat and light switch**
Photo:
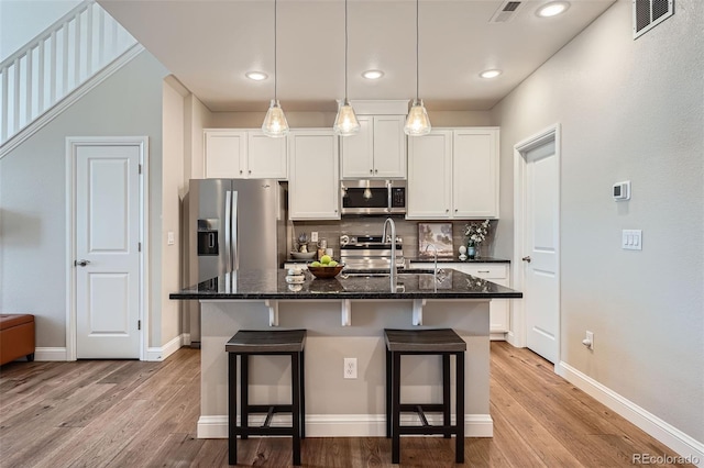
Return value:
M 561 358 L 704 441 L 704 9 L 637 41 L 616 2 L 494 110 L 497 256 L 513 256 L 513 146 L 562 125 Z M 632 183 L 616 203 L 612 185 Z M 620 248 L 642 230 L 642 252 Z M 581 344 L 586 330 L 595 350 Z

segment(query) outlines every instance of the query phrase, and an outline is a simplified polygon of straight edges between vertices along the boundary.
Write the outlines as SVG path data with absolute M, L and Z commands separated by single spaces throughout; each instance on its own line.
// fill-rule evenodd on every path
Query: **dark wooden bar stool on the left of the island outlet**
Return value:
M 238 463 L 237 436 L 250 435 L 290 435 L 293 437 L 294 465 L 300 465 L 300 439 L 306 437 L 306 404 L 304 391 L 304 345 L 305 330 L 285 331 L 239 331 L 224 346 L 228 352 L 228 404 L 229 411 L 229 463 Z M 290 356 L 292 403 L 290 404 L 250 404 L 249 402 L 249 357 L 250 356 Z M 240 425 L 237 424 L 238 398 L 238 356 L 240 356 Z M 292 413 L 293 424 L 287 427 L 272 427 L 275 413 Z M 252 427 L 250 414 L 266 414 L 264 424 Z

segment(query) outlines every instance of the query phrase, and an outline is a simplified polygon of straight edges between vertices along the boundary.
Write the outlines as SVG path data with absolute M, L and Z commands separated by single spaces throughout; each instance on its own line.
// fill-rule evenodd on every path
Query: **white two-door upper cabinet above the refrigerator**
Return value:
M 286 138 L 271 138 L 260 130 L 205 131 L 208 179 L 286 179 Z

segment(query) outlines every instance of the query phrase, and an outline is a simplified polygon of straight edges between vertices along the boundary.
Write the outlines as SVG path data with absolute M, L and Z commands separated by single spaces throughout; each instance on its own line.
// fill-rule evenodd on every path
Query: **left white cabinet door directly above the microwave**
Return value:
M 367 179 L 374 176 L 374 126 L 369 115 L 358 116 L 360 132 L 340 136 L 342 178 Z

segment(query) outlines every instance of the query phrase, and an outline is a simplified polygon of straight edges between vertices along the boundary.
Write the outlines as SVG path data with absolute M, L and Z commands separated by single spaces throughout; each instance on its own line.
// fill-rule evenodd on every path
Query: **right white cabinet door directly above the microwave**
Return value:
M 374 116 L 374 177 L 406 178 L 405 115 Z

